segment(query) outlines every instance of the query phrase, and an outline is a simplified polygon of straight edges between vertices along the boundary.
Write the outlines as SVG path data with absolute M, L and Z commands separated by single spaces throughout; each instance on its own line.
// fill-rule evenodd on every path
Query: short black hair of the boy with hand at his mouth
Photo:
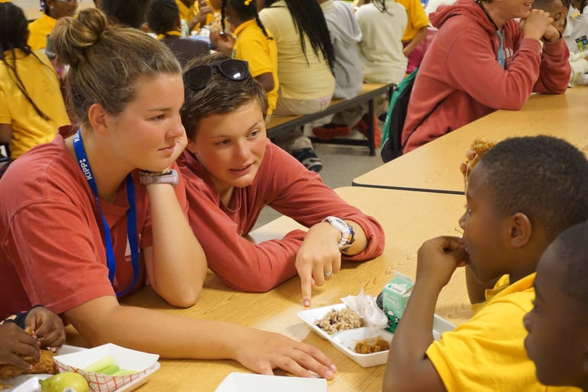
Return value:
M 498 212 L 524 213 L 547 241 L 588 220 L 588 160 L 556 137 L 513 137 L 480 158 Z

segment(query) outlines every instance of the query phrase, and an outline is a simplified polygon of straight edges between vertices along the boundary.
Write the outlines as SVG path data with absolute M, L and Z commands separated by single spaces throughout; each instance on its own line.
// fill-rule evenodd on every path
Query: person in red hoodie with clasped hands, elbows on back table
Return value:
M 519 110 L 532 91 L 565 92 L 568 48 L 549 14 L 531 3 L 459 0 L 430 15 L 439 32 L 414 82 L 404 153 L 494 110 Z

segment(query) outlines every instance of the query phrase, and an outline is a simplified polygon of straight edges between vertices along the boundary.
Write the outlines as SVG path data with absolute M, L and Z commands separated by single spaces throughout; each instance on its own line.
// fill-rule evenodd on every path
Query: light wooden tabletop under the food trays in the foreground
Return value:
M 416 251 L 426 239 L 442 234 L 461 236 L 457 225 L 464 210 L 464 197 L 450 194 L 345 187 L 338 194 L 365 213 L 378 217 L 386 234 L 384 254 L 366 263 L 343 263 L 343 270 L 324 286 L 313 290 L 312 307 L 339 303 L 347 295 L 377 296 L 397 270 L 411 277 L 416 272 Z M 252 233 L 254 239 L 281 238 L 298 224 L 280 217 Z M 184 317 L 224 320 L 274 331 L 323 350 L 338 367 L 328 381 L 328 391 L 381 391 L 384 365 L 360 367 L 328 341 L 321 339 L 297 316 L 303 310 L 300 279 L 288 280 L 267 293 L 241 293 L 227 289 L 209 274 L 196 305 L 179 310 L 167 305 L 151 288 L 123 301 L 125 305 L 153 308 Z M 459 324 L 471 317 L 463 270 L 458 270 L 443 289 L 436 312 Z M 75 336 L 73 336 L 75 337 Z M 165 335 L 162 336 L 165 339 Z M 70 336 L 68 336 L 68 343 Z M 214 391 L 231 372 L 248 372 L 232 360 L 160 360 L 140 391 Z M 283 372 L 276 372 L 283 375 Z

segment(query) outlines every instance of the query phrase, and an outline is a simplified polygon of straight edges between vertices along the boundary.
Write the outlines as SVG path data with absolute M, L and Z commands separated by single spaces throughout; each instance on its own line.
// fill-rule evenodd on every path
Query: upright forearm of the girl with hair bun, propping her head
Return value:
M 206 276 L 206 257 L 170 184 L 147 186 L 153 248 L 145 259 L 153 289 L 171 305 L 196 303 Z M 150 260 L 151 259 L 151 260 Z

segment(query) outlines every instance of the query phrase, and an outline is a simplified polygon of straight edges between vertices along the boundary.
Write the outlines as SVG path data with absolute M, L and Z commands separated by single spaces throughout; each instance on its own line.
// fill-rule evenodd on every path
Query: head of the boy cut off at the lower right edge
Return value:
M 588 391 L 588 220 L 570 227 L 541 256 L 535 302 L 525 315 L 525 348 L 545 385 Z

